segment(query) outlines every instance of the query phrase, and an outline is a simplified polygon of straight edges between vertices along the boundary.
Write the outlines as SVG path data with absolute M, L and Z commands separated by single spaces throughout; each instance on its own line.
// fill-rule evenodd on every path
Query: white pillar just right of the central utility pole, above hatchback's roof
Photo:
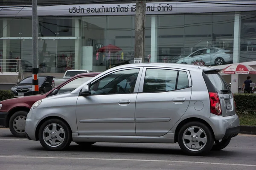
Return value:
M 152 15 L 151 17 L 151 59 L 150 62 L 157 62 L 157 42 L 158 42 L 158 35 L 157 35 L 157 16 Z

